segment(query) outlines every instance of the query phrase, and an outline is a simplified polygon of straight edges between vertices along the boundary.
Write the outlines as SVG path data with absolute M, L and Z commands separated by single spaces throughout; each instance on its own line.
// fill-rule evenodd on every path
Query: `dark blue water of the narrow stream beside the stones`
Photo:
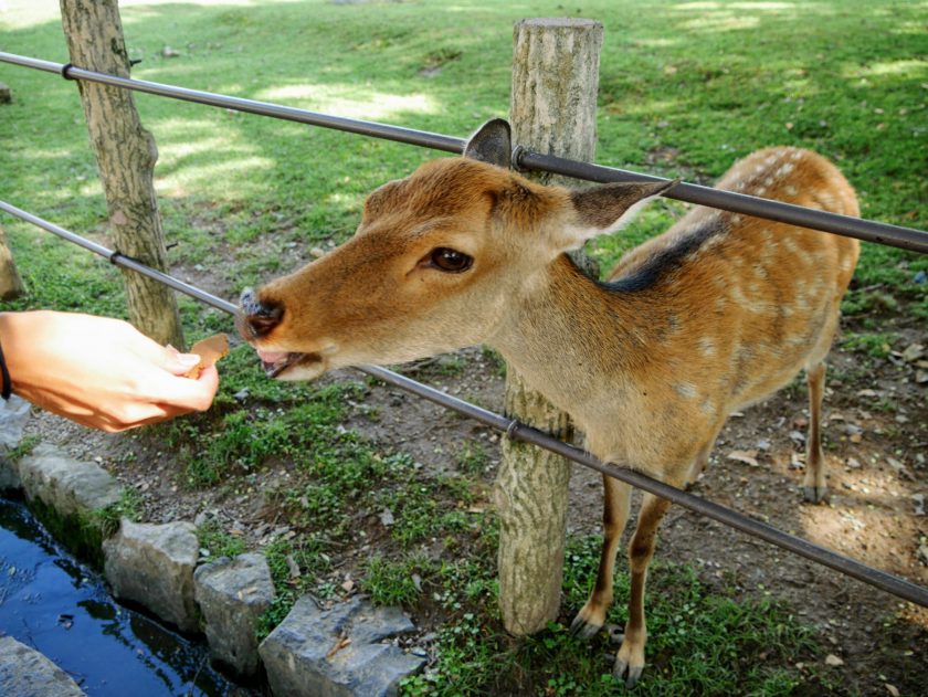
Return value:
M 205 645 L 117 604 L 19 501 L 0 498 L 0 634 L 39 650 L 91 697 L 251 694 Z

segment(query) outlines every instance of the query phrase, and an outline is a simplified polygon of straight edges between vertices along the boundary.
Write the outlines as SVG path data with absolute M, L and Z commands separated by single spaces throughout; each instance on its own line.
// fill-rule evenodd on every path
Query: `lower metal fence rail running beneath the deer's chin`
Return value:
M 60 228 L 54 223 L 51 223 L 46 220 L 39 218 L 38 215 L 33 215 L 23 211 L 22 209 L 17 208 L 15 205 L 11 205 L 4 201 L 0 201 L 0 211 L 4 211 L 10 215 L 19 218 L 20 220 L 24 220 L 33 225 L 38 225 L 48 232 L 51 232 L 68 242 L 77 244 L 85 250 L 93 252 L 94 254 L 98 254 L 104 258 L 109 260 L 113 264 L 117 266 L 123 266 L 125 268 L 131 268 L 140 274 L 148 276 L 149 278 L 154 278 L 165 285 L 170 286 L 171 288 L 179 291 L 186 295 L 189 295 L 207 305 L 214 307 L 215 309 L 222 310 L 230 315 L 234 315 L 238 310 L 236 306 L 228 300 L 223 300 L 205 291 L 191 286 L 190 284 L 183 283 L 182 281 L 175 278 L 168 274 L 165 274 L 160 271 L 151 268 L 137 260 L 134 260 L 125 254 L 122 254 L 115 250 L 109 250 L 96 242 L 91 240 L 86 240 L 73 232 L 65 230 L 64 228 Z M 456 411 L 461 414 L 470 416 L 471 419 L 475 419 L 476 421 L 481 422 L 482 424 L 496 429 L 497 431 L 504 432 L 508 437 L 524 441 L 526 443 L 531 443 L 539 447 L 544 447 L 548 451 L 562 455 L 568 460 L 576 462 L 580 465 L 586 467 L 591 467 L 592 469 L 597 469 L 602 474 L 605 474 L 610 477 L 614 477 L 616 479 L 621 479 L 622 482 L 626 482 L 634 487 L 654 494 L 656 496 L 661 496 L 669 500 L 673 504 L 677 504 L 683 506 L 684 508 L 688 508 L 697 514 L 711 518 L 713 520 L 717 520 L 724 525 L 730 526 L 740 530 L 747 535 L 758 537 L 771 545 L 776 545 L 782 549 L 797 553 L 801 557 L 804 557 L 815 563 L 822 564 L 824 567 L 829 567 L 830 569 L 834 569 L 835 571 L 840 571 L 846 575 L 857 579 L 858 581 L 863 581 L 864 583 L 868 583 L 875 588 L 878 588 L 887 593 L 892 593 L 898 598 L 904 600 L 908 600 L 910 602 L 917 603 L 925 608 L 928 608 L 928 588 L 922 588 L 910 581 L 901 579 L 899 577 L 895 577 L 890 573 L 886 573 L 885 571 L 880 571 L 879 569 L 874 569 L 868 567 L 860 561 L 851 559 L 848 557 L 844 557 L 843 555 L 839 555 L 825 547 L 821 547 L 809 540 L 804 540 L 802 538 L 788 535 L 782 530 L 774 528 L 773 526 L 767 525 L 766 522 L 760 522 L 749 516 L 744 514 L 737 513 L 735 510 L 730 510 L 725 508 L 724 506 L 719 506 L 713 501 L 706 500 L 687 492 L 683 492 L 677 489 L 673 486 L 664 484 L 663 482 L 658 482 L 652 477 L 641 474 L 640 472 L 635 472 L 629 467 L 620 467 L 612 463 L 604 463 L 589 453 L 558 441 L 553 436 L 538 429 L 532 426 L 526 425 L 515 419 L 509 419 L 507 416 L 503 416 L 500 414 L 494 413 L 481 406 L 476 406 L 475 404 L 471 404 L 463 400 L 460 400 L 450 394 L 445 394 L 434 388 L 429 386 L 422 384 L 407 378 L 404 376 L 398 374 L 391 370 L 387 370 L 386 368 L 379 368 L 376 366 L 361 366 L 358 368 L 362 372 L 378 378 L 389 384 L 398 387 L 400 389 L 407 390 L 428 399 L 431 402 L 440 404 L 446 409 L 451 409 Z

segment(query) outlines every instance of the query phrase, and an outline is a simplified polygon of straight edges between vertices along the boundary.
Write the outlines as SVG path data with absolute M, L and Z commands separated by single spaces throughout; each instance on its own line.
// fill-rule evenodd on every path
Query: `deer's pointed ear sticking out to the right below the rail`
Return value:
M 597 235 L 609 234 L 629 224 L 652 199 L 679 183 L 679 179 L 656 182 L 609 183 L 570 192 L 573 220 L 567 224 L 568 249 L 582 245 Z

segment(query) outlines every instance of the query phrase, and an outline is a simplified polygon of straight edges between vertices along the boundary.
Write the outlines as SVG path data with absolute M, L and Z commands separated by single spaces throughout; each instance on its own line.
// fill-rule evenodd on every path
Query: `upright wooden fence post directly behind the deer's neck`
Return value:
M 536 152 L 592 161 L 602 24 L 529 19 L 516 24 L 510 122 L 514 142 Z M 559 183 L 550 175 L 537 180 Z M 528 390 L 510 367 L 506 411 L 569 440 L 570 420 Z M 516 635 L 558 614 L 570 464 L 534 445 L 505 442 L 495 498 L 500 519 L 499 609 Z

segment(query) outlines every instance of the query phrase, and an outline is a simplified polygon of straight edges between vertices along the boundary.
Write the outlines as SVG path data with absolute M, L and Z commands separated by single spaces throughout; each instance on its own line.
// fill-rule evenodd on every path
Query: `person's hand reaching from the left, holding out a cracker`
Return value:
M 130 324 L 76 313 L 0 314 L 0 346 L 13 392 L 85 426 L 110 433 L 212 404 L 215 368 L 159 346 Z

